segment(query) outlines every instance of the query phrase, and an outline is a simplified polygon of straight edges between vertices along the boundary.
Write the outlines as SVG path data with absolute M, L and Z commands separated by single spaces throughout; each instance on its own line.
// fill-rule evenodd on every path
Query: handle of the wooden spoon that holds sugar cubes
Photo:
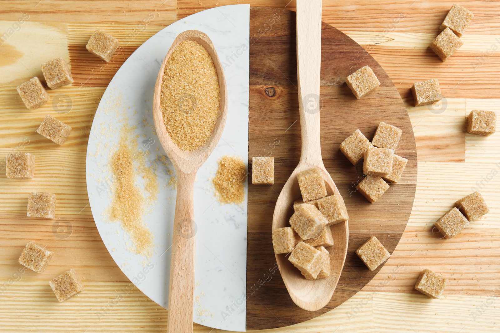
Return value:
M 319 139 L 321 0 L 297 0 L 298 110 L 302 135 L 300 161 L 322 166 Z

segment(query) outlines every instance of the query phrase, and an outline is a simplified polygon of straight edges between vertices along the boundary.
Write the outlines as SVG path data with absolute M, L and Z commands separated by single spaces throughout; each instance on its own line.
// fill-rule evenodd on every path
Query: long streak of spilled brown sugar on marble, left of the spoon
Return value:
M 145 157 L 138 150 L 136 137 L 133 137 L 132 133 L 132 128 L 122 127 L 118 149 L 110 159 L 113 193 L 107 212 L 111 221 L 121 222 L 121 227 L 132 241 L 132 250 L 150 258 L 153 236 L 142 221 L 147 202 L 142 190 L 135 185 L 135 182 L 141 174 L 141 183 L 144 184 L 145 191 L 149 193 L 148 201 L 156 199 L 159 188 L 156 175 L 145 166 Z

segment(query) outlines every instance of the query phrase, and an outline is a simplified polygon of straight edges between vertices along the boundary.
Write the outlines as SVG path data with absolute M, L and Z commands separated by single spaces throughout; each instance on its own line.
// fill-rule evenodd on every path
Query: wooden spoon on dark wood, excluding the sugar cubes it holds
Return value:
M 298 110 L 302 151 L 300 161 L 279 194 L 272 216 L 272 228 L 288 226 L 293 201 L 300 197 L 297 173 L 313 167 L 322 171 L 328 195 L 338 193 L 321 158 L 319 139 L 319 70 L 321 63 L 321 0 L 297 0 L 297 78 Z M 331 273 L 325 279 L 305 280 L 288 261 L 276 255 L 283 282 L 293 302 L 307 311 L 317 311 L 331 300 L 347 254 L 347 222 L 331 226 L 334 245 L 328 249 Z

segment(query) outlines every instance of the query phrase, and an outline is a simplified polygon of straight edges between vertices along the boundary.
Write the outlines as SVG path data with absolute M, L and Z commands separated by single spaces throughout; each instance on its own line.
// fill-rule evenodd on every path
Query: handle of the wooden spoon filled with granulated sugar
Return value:
M 196 172 L 176 170 L 177 197 L 173 220 L 167 333 L 191 333 L 196 227 L 193 188 Z

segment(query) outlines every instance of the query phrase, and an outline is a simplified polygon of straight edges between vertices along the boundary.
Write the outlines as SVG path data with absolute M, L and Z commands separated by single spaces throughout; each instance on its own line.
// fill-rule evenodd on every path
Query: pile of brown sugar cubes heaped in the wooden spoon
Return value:
M 330 254 L 333 246 L 330 226 L 349 219 L 340 194 L 327 195 L 324 179 L 318 168 L 297 174 L 301 199 L 293 203 L 290 227 L 272 230 L 275 254 L 289 253 L 288 260 L 307 280 L 330 275 Z

